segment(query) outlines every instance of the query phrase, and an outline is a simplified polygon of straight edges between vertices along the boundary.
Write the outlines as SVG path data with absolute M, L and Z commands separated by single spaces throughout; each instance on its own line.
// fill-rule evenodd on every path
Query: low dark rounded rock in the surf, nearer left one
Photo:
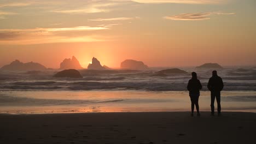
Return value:
M 83 76 L 75 69 L 66 69 L 56 73 L 53 77 L 82 78 Z

